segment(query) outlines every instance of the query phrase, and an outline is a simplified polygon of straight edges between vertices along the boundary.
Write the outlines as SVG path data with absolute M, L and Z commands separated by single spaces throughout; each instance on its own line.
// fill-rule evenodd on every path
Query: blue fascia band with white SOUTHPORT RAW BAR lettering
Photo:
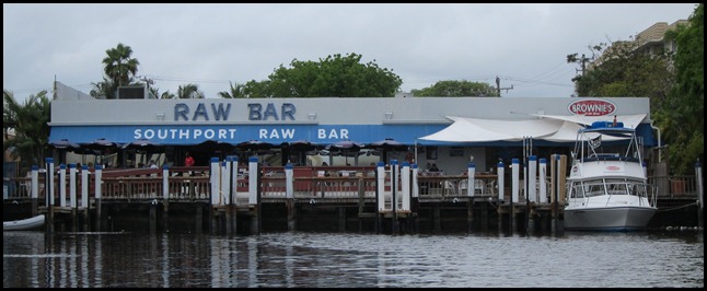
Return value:
M 316 144 L 331 144 L 341 140 L 371 143 L 392 138 L 401 143 L 439 147 L 521 147 L 521 141 L 444 142 L 418 138 L 438 132 L 449 125 L 151 125 L 151 126 L 53 126 L 49 142 L 68 139 L 77 143 L 91 143 L 105 138 L 117 143 L 128 143 L 147 138 L 164 146 L 194 146 L 207 140 L 240 143 L 259 140 L 274 144 L 308 140 Z M 638 126 L 637 135 L 646 147 L 656 147 L 650 125 Z M 552 142 L 533 140 L 534 147 L 572 147 L 575 141 Z

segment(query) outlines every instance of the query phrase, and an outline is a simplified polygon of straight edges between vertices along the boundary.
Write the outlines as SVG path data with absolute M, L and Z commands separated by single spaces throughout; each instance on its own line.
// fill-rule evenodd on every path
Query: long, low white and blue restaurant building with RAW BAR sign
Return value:
M 279 147 L 293 141 L 326 146 L 341 140 L 368 144 L 394 139 L 410 147 L 389 159 L 416 162 L 420 168 L 436 163 L 457 174 L 470 161 L 485 171 L 499 161 L 523 158 L 528 144 L 540 158 L 567 154 L 580 126 L 613 118 L 636 127 L 647 148 L 660 146 L 647 97 L 414 97 L 398 93 L 394 97 L 96 100 L 84 95 L 65 90 L 51 102 L 50 143 L 68 139 L 88 144 L 104 138 L 123 144 L 148 139 L 165 146 L 163 163 L 169 165 L 182 165 L 187 151 L 198 165 L 207 165 L 211 156 L 219 155 L 196 146 L 208 140 L 231 144 L 257 140 Z M 369 153 L 366 159 L 346 161 L 368 165 L 375 158 Z M 112 166 L 125 165 L 125 159 L 115 159 Z M 282 164 L 286 160 L 291 161 L 279 159 Z M 300 163 L 316 161 L 322 159 Z

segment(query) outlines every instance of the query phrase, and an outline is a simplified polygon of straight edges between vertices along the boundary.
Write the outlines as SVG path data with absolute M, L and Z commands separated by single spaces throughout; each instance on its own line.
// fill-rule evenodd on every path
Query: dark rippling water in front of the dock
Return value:
M 703 233 L 3 232 L 3 288 L 703 288 Z

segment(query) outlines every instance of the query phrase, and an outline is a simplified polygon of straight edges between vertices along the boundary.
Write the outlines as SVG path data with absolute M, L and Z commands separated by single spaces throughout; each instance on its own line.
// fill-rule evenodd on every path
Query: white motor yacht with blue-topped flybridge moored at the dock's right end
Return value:
M 636 130 L 615 119 L 580 129 L 567 181 L 565 230 L 645 230 L 658 209 L 641 154 Z

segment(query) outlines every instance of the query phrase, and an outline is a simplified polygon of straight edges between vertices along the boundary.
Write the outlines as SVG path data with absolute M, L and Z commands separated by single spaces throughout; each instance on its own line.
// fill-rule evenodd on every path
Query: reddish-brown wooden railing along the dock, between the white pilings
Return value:
M 244 170 L 247 170 L 245 167 Z M 95 198 L 95 171 L 76 168 L 71 179 L 71 170 L 65 170 L 65 182 L 60 182 L 60 166 L 55 167 L 53 189 L 55 199 L 70 203 L 69 191 L 73 188 L 82 195 L 83 184 L 88 183 L 89 199 Z M 82 174 L 88 172 L 84 182 Z M 208 200 L 211 194 L 211 181 L 208 166 L 164 168 L 107 168 L 102 170 L 102 199 L 106 200 L 153 200 L 170 199 L 174 201 Z M 297 166 L 293 168 L 293 198 L 374 198 L 376 177 L 374 166 Z M 166 184 L 164 175 L 167 175 Z M 259 191 L 265 199 L 286 198 L 287 182 L 285 167 L 259 166 Z M 33 185 L 35 179 L 36 186 Z M 235 191 L 247 193 L 250 189 L 248 173 L 236 175 Z M 417 190 L 420 198 L 462 197 L 467 196 L 468 185 L 464 175 L 428 175 L 417 176 Z M 73 183 L 73 186 L 71 186 Z M 389 182 L 390 183 L 390 182 Z M 474 196 L 496 197 L 498 191 L 496 175 L 476 173 Z M 36 177 L 9 177 L 3 179 L 3 198 L 5 202 L 22 202 L 32 199 L 33 187 L 36 187 L 40 206 L 46 203 L 46 171 L 37 170 Z M 658 198 L 697 198 L 697 181 L 694 175 L 651 176 L 649 184 L 657 189 Z M 165 189 L 166 187 L 166 196 Z M 386 185 L 390 189 L 390 185 Z M 57 200 L 55 205 L 61 201 Z

